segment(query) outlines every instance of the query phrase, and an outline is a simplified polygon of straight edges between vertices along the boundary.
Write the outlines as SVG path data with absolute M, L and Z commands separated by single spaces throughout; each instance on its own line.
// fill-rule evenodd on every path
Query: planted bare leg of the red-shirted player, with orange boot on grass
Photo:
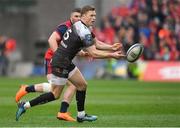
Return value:
M 60 110 L 57 114 L 57 118 L 66 121 L 75 121 L 75 119 L 69 118 L 70 113 L 68 112 L 69 104 L 76 92 L 76 87 L 70 82 L 67 82 L 67 88 L 64 92 L 63 99 L 61 102 Z

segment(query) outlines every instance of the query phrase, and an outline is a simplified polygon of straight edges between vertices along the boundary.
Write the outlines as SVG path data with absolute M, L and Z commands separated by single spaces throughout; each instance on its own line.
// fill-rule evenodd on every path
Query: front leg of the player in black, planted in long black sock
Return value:
M 77 67 L 72 71 L 72 75 L 69 77 L 69 80 L 77 88 L 76 91 L 76 101 L 77 101 L 77 109 L 78 109 L 77 121 L 83 122 L 83 121 L 97 120 L 97 116 L 87 115 L 85 113 L 84 105 L 86 98 L 87 82 Z

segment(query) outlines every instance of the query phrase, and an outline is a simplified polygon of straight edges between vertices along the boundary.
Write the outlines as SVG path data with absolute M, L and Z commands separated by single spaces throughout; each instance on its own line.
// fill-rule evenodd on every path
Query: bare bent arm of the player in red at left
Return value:
M 55 52 L 58 48 L 58 42 L 61 40 L 60 35 L 54 31 L 48 39 L 49 46 L 53 52 Z

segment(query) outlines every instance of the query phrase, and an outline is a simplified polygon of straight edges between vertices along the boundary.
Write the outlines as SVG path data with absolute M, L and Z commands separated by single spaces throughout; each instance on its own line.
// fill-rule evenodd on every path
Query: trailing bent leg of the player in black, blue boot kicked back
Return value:
M 67 83 L 67 78 L 70 71 L 60 67 L 54 67 L 52 72 L 53 74 L 51 75 L 51 92 L 44 93 L 31 101 L 19 104 L 16 112 L 16 120 L 20 118 L 26 109 L 58 99 L 62 93 L 64 85 Z

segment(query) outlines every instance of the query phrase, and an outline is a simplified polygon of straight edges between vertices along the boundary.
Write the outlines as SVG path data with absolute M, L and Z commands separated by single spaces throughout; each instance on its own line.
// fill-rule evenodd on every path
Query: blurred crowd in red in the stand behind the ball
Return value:
M 102 19 L 96 36 L 109 44 L 122 42 L 145 46 L 144 60 L 180 60 L 180 1 L 134 0 L 114 7 Z

